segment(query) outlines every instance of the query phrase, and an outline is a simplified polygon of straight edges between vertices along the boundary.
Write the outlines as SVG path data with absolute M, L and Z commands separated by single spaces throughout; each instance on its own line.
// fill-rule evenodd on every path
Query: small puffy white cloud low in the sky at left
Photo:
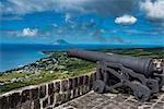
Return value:
M 38 29 L 37 28 L 35 28 L 35 29 L 31 29 L 31 28 L 24 28 L 23 31 L 22 31 L 22 36 L 35 36 L 35 35 L 37 35 L 37 33 L 38 33 Z

